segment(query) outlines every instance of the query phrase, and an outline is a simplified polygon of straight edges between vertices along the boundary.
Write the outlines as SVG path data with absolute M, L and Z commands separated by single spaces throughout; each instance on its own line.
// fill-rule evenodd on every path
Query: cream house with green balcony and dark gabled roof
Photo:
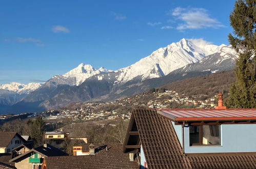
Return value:
M 15 167 L 19 169 L 41 168 L 43 159 L 52 156 L 68 156 L 67 153 L 57 149 L 49 144 L 35 147 L 21 155 L 14 157 L 9 162 L 14 162 Z

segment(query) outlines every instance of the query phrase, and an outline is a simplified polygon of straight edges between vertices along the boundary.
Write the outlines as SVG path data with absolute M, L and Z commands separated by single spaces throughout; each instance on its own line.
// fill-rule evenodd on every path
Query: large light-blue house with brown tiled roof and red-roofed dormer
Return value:
M 256 109 L 133 110 L 123 152 L 141 168 L 256 168 Z

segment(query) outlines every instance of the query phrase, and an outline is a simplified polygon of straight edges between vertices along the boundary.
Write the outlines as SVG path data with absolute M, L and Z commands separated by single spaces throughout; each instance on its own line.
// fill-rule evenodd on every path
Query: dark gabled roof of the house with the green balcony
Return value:
M 31 149 L 30 151 L 27 151 L 26 153 L 22 154 L 22 155 L 19 155 L 13 159 L 10 160 L 10 162 L 12 161 L 18 161 L 19 158 L 23 157 L 23 156 L 26 156 L 26 155 L 30 155 L 30 153 L 38 153 L 38 154 L 41 154 L 42 156 L 44 157 L 52 157 L 52 156 L 68 156 L 67 153 L 61 151 L 60 149 L 57 149 L 56 147 L 50 145 L 50 144 L 47 144 L 47 147 L 44 147 L 44 145 L 41 145 L 41 146 L 38 146 L 38 147 L 35 147 L 34 149 Z

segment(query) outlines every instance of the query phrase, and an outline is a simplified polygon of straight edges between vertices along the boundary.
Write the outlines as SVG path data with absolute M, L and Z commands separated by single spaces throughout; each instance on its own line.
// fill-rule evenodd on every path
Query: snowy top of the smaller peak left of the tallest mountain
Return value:
M 63 74 L 63 75 L 55 75 L 51 79 L 49 79 L 46 83 L 54 82 L 54 85 L 69 85 L 69 86 L 79 86 L 82 82 L 84 82 L 89 77 L 101 74 L 112 72 L 111 70 L 107 70 L 103 67 L 99 69 L 93 68 L 91 65 L 80 64 L 76 68 L 71 71 Z

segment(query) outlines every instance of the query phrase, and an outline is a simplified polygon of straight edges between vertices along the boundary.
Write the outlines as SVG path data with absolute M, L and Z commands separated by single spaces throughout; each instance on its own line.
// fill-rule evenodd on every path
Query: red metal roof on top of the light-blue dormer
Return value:
M 160 109 L 175 121 L 192 120 L 255 120 L 256 109 Z

